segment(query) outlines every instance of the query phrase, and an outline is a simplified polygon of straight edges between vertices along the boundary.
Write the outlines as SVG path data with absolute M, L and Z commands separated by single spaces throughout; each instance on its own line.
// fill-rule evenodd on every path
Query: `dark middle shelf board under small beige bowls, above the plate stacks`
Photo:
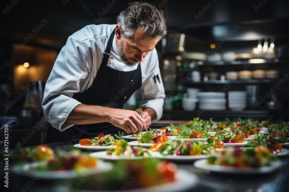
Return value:
M 201 82 L 186 82 L 186 85 L 203 85 L 203 84 L 261 84 L 261 83 L 276 83 L 279 82 L 280 78 L 272 79 L 225 79 L 225 80 L 209 80 Z M 289 81 L 284 81 L 289 83 Z

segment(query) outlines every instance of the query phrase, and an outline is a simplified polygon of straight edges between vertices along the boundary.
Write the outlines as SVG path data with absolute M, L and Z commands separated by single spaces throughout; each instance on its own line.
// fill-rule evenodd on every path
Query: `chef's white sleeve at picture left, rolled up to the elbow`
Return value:
M 60 131 L 73 126 L 64 122 L 81 104 L 72 96 L 80 92 L 80 86 L 85 85 L 90 75 L 89 60 L 83 43 L 76 37 L 68 37 L 47 79 L 42 108 L 51 125 Z

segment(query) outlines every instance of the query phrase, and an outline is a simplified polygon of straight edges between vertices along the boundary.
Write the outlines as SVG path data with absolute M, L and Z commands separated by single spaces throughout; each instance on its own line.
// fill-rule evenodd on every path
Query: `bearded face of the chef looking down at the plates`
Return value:
M 155 48 L 158 38 L 150 39 L 137 29 L 132 38 L 121 37 L 117 44 L 117 53 L 127 66 L 134 66 L 142 62 L 143 58 Z

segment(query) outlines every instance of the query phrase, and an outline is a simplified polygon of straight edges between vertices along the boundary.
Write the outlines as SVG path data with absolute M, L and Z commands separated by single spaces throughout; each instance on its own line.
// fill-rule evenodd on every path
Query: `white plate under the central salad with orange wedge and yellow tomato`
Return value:
M 160 152 L 151 152 L 151 156 L 154 158 L 166 159 L 171 161 L 188 161 L 196 159 L 205 159 L 216 154 L 211 155 L 162 155 Z

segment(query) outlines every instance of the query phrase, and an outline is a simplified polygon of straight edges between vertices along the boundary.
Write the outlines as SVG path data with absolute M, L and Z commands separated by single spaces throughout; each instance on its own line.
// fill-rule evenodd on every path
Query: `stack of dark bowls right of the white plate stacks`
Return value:
M 260 102 L 260 85 L 246 85 L 247 108 L 258 109 L 257 102 Z

